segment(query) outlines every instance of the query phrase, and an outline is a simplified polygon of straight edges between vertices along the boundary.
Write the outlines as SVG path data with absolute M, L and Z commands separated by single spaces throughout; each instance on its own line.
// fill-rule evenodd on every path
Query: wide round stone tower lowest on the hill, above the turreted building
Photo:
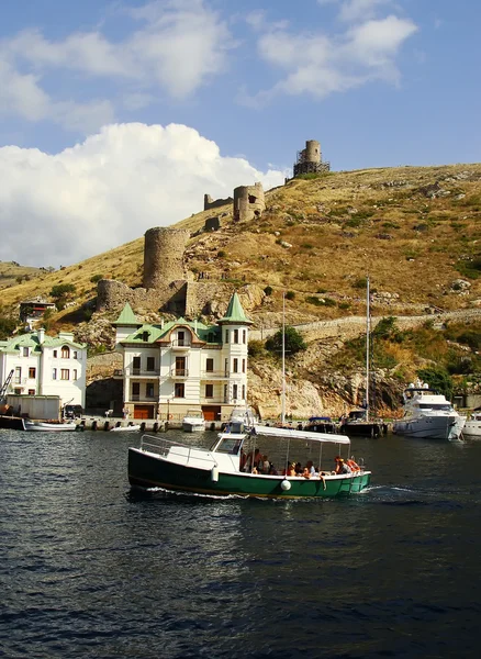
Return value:
M 145 232 L 144 288 L 160 288 L 176 279 L 184 279 L 183 252 L 190 232 L 155 226 Z

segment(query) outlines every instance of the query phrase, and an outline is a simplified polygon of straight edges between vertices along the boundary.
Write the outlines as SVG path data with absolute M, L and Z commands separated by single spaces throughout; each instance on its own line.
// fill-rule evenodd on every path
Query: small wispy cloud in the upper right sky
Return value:
M 324 98 L 372 80 L 396 83 L 396 56 L 416 31 L 411 20 L 391 15 L 351 25 L 336 36 L 287 30 L 262 34 L 260 57 L 283 69 L 286 76 L 271 89 L 247 98 L 247 103 L 262 104 L 279 93 Z

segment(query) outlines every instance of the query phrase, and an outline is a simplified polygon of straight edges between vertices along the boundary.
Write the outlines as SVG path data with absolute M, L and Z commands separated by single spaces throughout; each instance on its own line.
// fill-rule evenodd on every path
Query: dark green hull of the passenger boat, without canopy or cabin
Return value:
M 370 471 L 359 474 L 318 478 L 290 478 L 289 490 L 281 476 L 256 476 L 251 473 L 224 473 L 213 476 L 210 469 L 187 467 L 164 459 L 156 454 L 137 448 L 128 449 L 128 481 L 133 487 L 164 488 L 216 496 L 256 496 L 270 499 L 327 498 L 358 493 L 369 485 Z M 215 480 L 217 479 L 217 480 Z

